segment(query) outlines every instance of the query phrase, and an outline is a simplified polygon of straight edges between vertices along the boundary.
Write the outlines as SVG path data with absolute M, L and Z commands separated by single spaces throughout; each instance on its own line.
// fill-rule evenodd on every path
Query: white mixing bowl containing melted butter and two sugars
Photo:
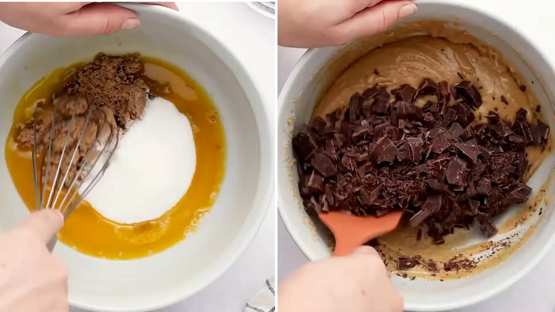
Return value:
M 100 51 L 138 51 L 175 64 L 206 89 L 221 115 L 227 147 L 224 181 L 196 233 L 162 253 L 128 261 L 95 259 L 61 243 L 56 246 L 54 254 L 68 266 L 70 304 L 96 311 L 154 310 L 214 281 L 253 240 L 274 190 L 273 122 L 233 52 L 178 12 L 140 4 L 126 7 L 139 14 L 138 29 L 75 38 L 28 33 L 0 57 L 2 147 L 14 109 L 28 88 L 54 69 L 90 60 Z M 4 159 L 0 231 L 26 215 Z

